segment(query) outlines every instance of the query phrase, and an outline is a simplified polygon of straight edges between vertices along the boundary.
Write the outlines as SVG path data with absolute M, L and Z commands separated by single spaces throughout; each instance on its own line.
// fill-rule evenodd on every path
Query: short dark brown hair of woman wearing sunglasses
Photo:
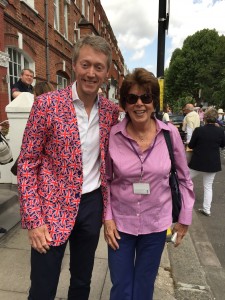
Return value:
M 120 106 L 125 110 L 127 95 L 132 86 L 137 84 L 142 87 L 147 94 L 152 95 L 153 106 L 156 110 L 159 107 L 159 82 L 153 73 L 144 68 L 136 68 L 124 78 L 120 88 Z

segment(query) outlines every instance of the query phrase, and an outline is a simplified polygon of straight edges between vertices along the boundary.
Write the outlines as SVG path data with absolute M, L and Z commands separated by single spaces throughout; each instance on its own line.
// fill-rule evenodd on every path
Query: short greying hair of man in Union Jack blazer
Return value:
M 77 43 L 74 46 L 73 51 L 73 63 L 75 64 L 77 62 L 77 59 L 80 54 L 80 49 L 83 46 L 90 46 L 95 51 L 102 52 L 107 56 L 107 68 L 109 70 L 111 63 L 112 63 L 112 49 L 109 43 L 101 36 L 94 36 L 94 35 L 86 35 L 80 40 L 77 41 Z

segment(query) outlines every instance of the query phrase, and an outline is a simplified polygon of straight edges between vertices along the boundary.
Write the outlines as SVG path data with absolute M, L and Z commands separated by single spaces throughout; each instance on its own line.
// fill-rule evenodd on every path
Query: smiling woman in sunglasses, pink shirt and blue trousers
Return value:
M 109 199 L 104 225 L 113 285 L 110 299 L 150 300 L 166 230 L 172 223 L 171 162 L 162 130 L 170 132 L 182 193 L 179 223 L 173 228 L 178 233 L 176 246 L 191 224 L 193 184 L 177 128 L 154 117 L 159 105 L 157 78 L 143 68 L 128 74 L 120 105 L 126 117 L 111 130 L 106 166 Z

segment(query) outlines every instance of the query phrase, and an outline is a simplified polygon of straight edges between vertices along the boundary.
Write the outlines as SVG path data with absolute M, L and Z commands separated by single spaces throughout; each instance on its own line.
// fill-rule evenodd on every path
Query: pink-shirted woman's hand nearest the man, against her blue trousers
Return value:
M 116 229 L 114 220 L 106 220 L 104 222 L 104 234 L 106 243 L 113 249 L 119 249 L 117 240 L 120 240 L 120 235 Z

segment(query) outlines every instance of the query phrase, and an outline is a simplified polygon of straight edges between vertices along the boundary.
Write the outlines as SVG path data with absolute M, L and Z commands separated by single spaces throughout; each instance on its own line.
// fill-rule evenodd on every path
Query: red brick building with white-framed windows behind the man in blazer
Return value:
M 23 68 L 58 89 L 74 81 L 73 46 L 86 34 L 100 35 L 112 47 L 110 79 L 103 90 L 117 98 L 124 59 L 100 0 L 0 0 L 0 121 L 6 119 L 10 86 Z

